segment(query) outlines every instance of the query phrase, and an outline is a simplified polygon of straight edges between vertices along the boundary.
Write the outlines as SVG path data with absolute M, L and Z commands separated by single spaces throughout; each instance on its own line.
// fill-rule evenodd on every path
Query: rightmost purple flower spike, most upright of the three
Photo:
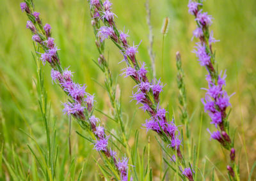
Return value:
M 222 72 L 220 74 L 214 68 L 215 56 L 212 52 L 212 43 L 215 43 L 218 40 L 213 38 L 213 33 L 209 34 L 209 26 L 212 24 L 212 17 L 208 15 L 206 12 L 203 12 L 202 7 L 203 4 L 196 3 L 193 1 L 189 1 L 188 8 L 189 13 L 195 16 L 197 27 L 193 32 L 193 36 L 198 38 L 200 42 L 196 43 L 195 50 L 193 51 L 198 57 L 198 61 L 201 66 L 204 66 L 209 75 L 206 76 L 206 80 L 208 82 L 208 89 L 205 89 L 206 94 L 205 98 L 202 99 L 202 103 L 204 104 L 204 110 L 211 117 L 211 124 L 218 129 L 217 131 L 211 133 L 211 138 L 217 140 L 221 143 L 221 145 L 227 150 L 230 150 L 230 161 L 232 166 L 228 166 L 228 171 L 232 177 L 234 177 L 235 169 L 235 150 L 232 148 L 234 143 L 232 143 L 230 136 L 228 136 L 228 124 L 227 124 L 227 113 L 226 110 L 230 105 L 230 96 L 228 96 L 227 92 L 224 90 L 224 86 L 226 85 L 225 78 L 226 73 Z

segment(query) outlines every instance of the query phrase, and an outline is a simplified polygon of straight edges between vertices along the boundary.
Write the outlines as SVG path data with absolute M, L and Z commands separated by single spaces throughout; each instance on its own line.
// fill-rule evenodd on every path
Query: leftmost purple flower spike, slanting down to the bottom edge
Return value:
M 92 0 L 91 2 L 99 5 L 99 1 Z M 109 4 L 106 4 L 106 6 L 109 6 Z M 57 53 L 60 49 L 56 47 L 54 39 L 51 38 L 51 25 L 43 25 L 39 17 L 40 13 L 33 12 L 28 4 L 21 3 L 20 8 L 22 11 L 26 11 L 26 13 L 29 14 L 29 17 L 35 18 L 35 24 L 32 21 L 28 21 L 26 27 L 33 33 L 32 40 L 39 43 L 40 47 L 44 50 L 44 54 L 41 54 L 40 57 L 42 63 L 45 65 L 45 62 L 48 62 L 52 67 L 52 83 L 60 85 L 61 89 L 63 89 L 63 91 L 65 91 L 71 98 L 67 103 L 63 103 L 63 112 L 67 113 L 67 115 L 72 115 L 77 120 L 90 123 L 89 129 L 96 138 L 95 143 L 93 144 L 95 150 L 103 152 L 109 159 L 111 159 L 116 170 L 120 172 L 120 178 L 125 180 L 128 172 L 127 159 L 117 161 L 116 152 L 108 148 L 109 136 L 106 136 L 104 127 L 100 126 L 100 120 L 92 115 L 94 96 L 85 91 L 85 85 L 80 85 L 72 80 L 72 71 L 68 70 L 68 68 L 61 68 L 60 59 Z M 39 27 L 40 29 L 38 30 L 36 27 Z

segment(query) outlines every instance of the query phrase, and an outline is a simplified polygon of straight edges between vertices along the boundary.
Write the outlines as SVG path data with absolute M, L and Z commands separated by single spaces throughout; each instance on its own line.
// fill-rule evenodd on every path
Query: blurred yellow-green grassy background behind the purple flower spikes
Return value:
M 3 156 L 10 164 L 15 163 L 18 157 L 24 172 L 29 173 L 33 158 L 27 147 L 31 139 L 22 133 L 33 131 L 40 145 L 45 144 L 45 133 L 42 128 L 41 115 L 38 109 L 35 83 L 36 66 L 33 61 L 33 43 L 31 33 L 26 29 L 27 17 L 20 11 L 20 2 L 17 0 L 2 0 L 0 6 L 0 139 L 3 142 Z M 116 24 L 120 29 L 129 29 L 129 41 L 140 43 L 138 59 L 145 61 L 150 67 L 148 56 L 148 26 L 146 22 L 145 0 L 112 0 L 113 11 L 116 13 Z M 175 52 L 182 55 L 183 68 L 186 74 L 185 82 L 188 94 L 188 111 L 191 115 L 195 112 L 191 122 L 191 135 L 194 143 L 198 143 L 198 131 L 200 117 L 202 115 L 202 140 L 200 147 L 199 167 L 205 167 L 205 177 L 211 178 L 212 168 L 215 168 L 216 180 L 222 180 L 221 173 L 226 175 L 228 163 L 227 152 L 221 150 L 220 144 L 210 141 L 207 128 L 213 126 L 209 123 L 209 117 L 204 113 L 200 99 L 205 91 L 201 87 L 207 87 L 205 81 L 206 71 L 196 61 L 195 54 L 191 51 L 195 40 L 191 41 L 195 20 L 188 14 L 188 0 L 150 0 L 152 10 L 152 25 L 154 33 L 154 52 L 156 53 L 157 78 L 161 75 L 161 51 L 162 34 L 161 26 L 164 17 L 170 17 L 170 27 L 164 39 L 164 86 L 162 106 L 169 105 L 170 113 L 174 114 L 179 122 L 178 89 L 176 83 L 177 69 L 175 67 Z M 214 17 L 212 31 L 214 37 L 220 42 L 214 45 L 218 68 L 227 70 L 227 92 L 232 94 L 232 112 L 230 114 L 230 127 L 236 129 L 237 157 L 240 159 L 241 178 L 246 180 L 248 172 L 256 160 L 256 1 L 248 0 L 207 0 L 204 10 Z M 41 13 L 44 23 L 52 26 L 52 37 L 55 38 L 63 66 L 75 72 L 74 79 L 79 83 L 86 83 L 87 91 L 95 94 L 97 106 L 105 113 L 109 110 L 107 92 L 93 79 L 104 82 L 104 75 L 92 62 L 97 59 L 98 52 L 94 43 L 94 35 L 91 27 L 90 11 L 86 0 L 35 0 L 35 10 Z M 109 57 L 110 68 L 113 76 L 122 90 L 122 106 L 126 121 L 131 120 L 134 112 L 139 108 L 134 101 L 131 103 L 132 87 L 134 82 L 130 78 L 119 76 L 120 69 L 124 68 L 122 55 L 112 42 L 106 42 L 106 55 Z M 51 115 L 56 120 L 58 145 L 60 147 L 60 165 L 67 173 L 71 158 L 68 156 L 68 119 L 62 113 L 61 102 L 67 97 L 57 85 L 52 85 L 49 66 L 45 66 L 45 87 L 51 101 Z M 111 120 L 98 115 L 107 127 L 115 127 Z M 140 130 L 140 150 L 147 145 L 148 135 L 152 140 L 151 159 L 154 177 L 157 180 L 161 174 L 159 164 L 159 145 L 154 139 L 154 133 L 146 133 L 141 124 L 148 118 L 147 113 L 138 110 L 131 129 Z M 74 173 L 79 173 L 84 165 L 83 180 L 98 180 L 99 168 L 93 161 L 93 157 L 99 157 L 93 145 L 76 134 L 81 131 L 76 122 L 72 123 L 72 157 L 76 159 Z M 82 131 L 81 131 L 82 132 Z M 243 138 L 245 145 L 243 144 Z M 133 138 L 129 143 L 132 145 Z M 246 149 L 245 149 L 246 148 Z M 15 153 L 15 156 L 13 156 Z M 61 163 L 62 160 L 62 163 Z M 8 165 L 3 161 L 1 166 L 1 178 L 11 179 Z M 256 178 L 256 172 L 254 177 Z M 70 177 L 77 177 L 70 175 Z

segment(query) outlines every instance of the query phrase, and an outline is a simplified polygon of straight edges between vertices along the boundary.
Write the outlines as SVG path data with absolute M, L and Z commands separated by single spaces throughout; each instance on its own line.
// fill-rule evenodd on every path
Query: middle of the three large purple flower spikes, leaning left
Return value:
M 180 133 L 177 126 L 166 119 L 166 110 L 159 106 L 159 94 L 163 91 L 163 83 L 161 80 L 148 80 L 147 68 L 145 62 L 141 66 L 138 65 L 136 54 L 138 54 L 138 46 L 130 46 L 127 37 L 128 35 L 122 31 L 118 31 L 113 21 L 113 13 L 111 13 L 111 3 L 105 1 L 104 4 L 108 6 L 97 6 L 90 2 L 92 14 L 100 14 L 100 20 L 104 22 L 104 26 L 99 28 L 97 36 L 100 41 L 104 41 L 110 38 L 120 48 L 122 55 L 124 55 L 124 61 L 127 64 L 127 68 L 122 69 L 122 75 L 131 76 L 136 82 L 136 92 L 132 94 L 132 99 L 136 100 L 137 104 L 141 104 L 140 107 L 145 112 L 150 114 L 150 119 L 146 120 L 143 127 L 156 131 L 158 134 L 166 134 L 170 138 L 171 143 L 169 147 L 177 149 L 179 158 L 182 158 L 180 152 Z M 95 8 L 93 8 L 93 6 Z M 106 16 L 111 15 L 111 16 Z M 108 23 L 107 23 L 108 22 Z

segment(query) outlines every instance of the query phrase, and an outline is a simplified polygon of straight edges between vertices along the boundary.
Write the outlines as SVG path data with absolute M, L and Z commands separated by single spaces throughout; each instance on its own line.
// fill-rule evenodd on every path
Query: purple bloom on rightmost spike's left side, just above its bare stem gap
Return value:
M 193 50 L 193 53 L 196 54 L 196 57 L 198 57 L 198 61 L 200 61 L 201 66 L 207 66 L 211 63 L 211 56 L 207 54 L 205 50 L 205 45 L 202 45 L 201 43 L 196 43 L 196 49 Z

